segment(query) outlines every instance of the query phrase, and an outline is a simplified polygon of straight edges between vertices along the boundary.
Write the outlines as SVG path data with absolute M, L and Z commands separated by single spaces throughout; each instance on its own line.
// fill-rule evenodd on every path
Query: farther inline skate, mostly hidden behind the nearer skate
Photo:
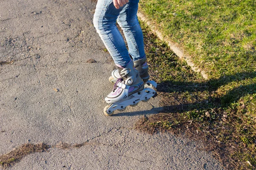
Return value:
M 148 74 L 148 64 L 146 61 L 146 57 L 143 57 L 142 59 L 139 59 L 137 61 L 134 61 L 134 67 L 137 71 L 140 72 L 140 77 L 143 79 L 143 82 L 145 83 L 145 88 L 157 88 L 157 83 L 149 79 Z M 111 73 L 111 77 L 108 78 L 108 80 L 112 83 L 115 83 L 117 79 L 119 79 L 121 76 L 119 74 L 118 69 L 113 70 Z

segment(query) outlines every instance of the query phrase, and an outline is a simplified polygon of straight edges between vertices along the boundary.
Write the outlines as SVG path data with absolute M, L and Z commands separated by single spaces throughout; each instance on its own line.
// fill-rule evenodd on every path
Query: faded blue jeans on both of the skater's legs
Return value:
M 138 3 L 139 0 L 130 0 L 119 9 L 115 8 L 113 0 L 98 0 L 96 5 L 94 27 L 119 67 L 124 68 L 131 62 L 131 57 L 133 61 L 145 57 L 143 33 L 137 19 Z M 129 51 L 116 27 L 116 21 L 125 34 Z

